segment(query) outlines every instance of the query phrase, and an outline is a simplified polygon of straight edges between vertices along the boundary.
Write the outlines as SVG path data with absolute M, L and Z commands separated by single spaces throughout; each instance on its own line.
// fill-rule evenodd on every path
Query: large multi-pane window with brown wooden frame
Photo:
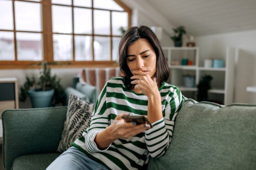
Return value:
M 119 0 L 0 0 L 0 65 L 113 64 L 130 15 Z

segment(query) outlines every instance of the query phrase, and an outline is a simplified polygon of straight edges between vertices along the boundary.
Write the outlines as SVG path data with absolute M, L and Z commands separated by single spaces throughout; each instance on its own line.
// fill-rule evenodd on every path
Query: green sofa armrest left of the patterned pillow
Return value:
M 3 160 L 10 170 L 16 157 L 56 153 L 66 120 L 67 107 L 8 109 L 2 113 Z

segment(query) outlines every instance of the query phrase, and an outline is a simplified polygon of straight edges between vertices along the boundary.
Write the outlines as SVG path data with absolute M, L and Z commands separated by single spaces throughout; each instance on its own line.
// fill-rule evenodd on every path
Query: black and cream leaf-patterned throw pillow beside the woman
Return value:
M 95 104 L 88 103 L 76 95 L 69 95 L 67 119 L 59 142 L 58 151 L 64 152 L 91 123 L 91 114 Z

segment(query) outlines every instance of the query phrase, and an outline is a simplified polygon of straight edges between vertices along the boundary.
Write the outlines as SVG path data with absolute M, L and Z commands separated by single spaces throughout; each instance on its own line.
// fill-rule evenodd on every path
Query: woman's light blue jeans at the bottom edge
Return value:
M 51 165 L 48 166 L 46 170 L 108 170 L 107 167 L 101 165 L 100 163 L 91 160 L 87 155 L 78 150 L 76 147 L 72 146 L 61 155 L 59 155 L 56 160 L 54 160 Z

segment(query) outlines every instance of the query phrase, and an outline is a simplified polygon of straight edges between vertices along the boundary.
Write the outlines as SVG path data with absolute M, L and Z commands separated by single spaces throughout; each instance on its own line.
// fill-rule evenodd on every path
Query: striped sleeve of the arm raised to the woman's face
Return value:
M 171 143 L 175 117 L 182 105 L 181 91 L 171 90 L 170 102 L 165 105 L 165 117 L 154 122 L 153 128 L 145 130 L 145 143 L 151 157 L 160 157 Z

